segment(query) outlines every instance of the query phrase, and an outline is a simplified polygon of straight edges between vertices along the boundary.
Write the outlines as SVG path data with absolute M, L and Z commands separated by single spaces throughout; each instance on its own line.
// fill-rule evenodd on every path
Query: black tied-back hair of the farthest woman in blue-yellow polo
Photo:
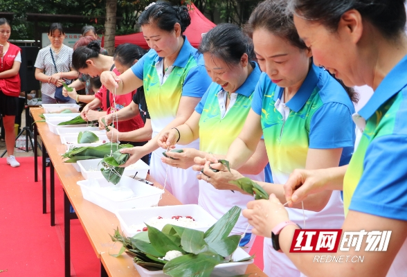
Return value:
M 141 12 L 138 17 L 140 26 L 147 24 L 156 24 L 161 30 L 171 32 L 174 30 L 174 24 L 181 26 L 181 35 L 191 24 L 191 17 L 186 6 L 172 6 L 166 1 L 157 1 L 151 3 Z

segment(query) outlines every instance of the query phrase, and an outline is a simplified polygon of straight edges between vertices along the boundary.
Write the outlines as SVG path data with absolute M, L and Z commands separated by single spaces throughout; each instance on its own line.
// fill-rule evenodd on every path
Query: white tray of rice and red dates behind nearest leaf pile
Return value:
M 190 215 L 196 222 L 202 224 L 202 227 L 192 228 L 199 231 L 206 231 L 217 222 L 215 217 L 205 211 L 201 206 L 196 204 L 190 205 L 177 205 L 177 206 L 159 206 L 153 208 L 132 208 L 127 210 L 120 210 L 116 212 L 116 217 L 120 222 L 120 228 L 127 237 L 136 235 L 129 226 L 143 224 L 152 217 L 171 218 L 174 215 L 181 215 L 185 217 Z

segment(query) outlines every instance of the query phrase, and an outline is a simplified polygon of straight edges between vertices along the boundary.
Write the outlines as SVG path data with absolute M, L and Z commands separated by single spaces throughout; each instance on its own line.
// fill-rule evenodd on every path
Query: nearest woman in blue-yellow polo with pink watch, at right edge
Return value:
M 406 276 L 404 4 L 404 0 L 289 1 L 298 34 L 313 51 L 314 62 L 347 86 L 368 84 L 374 89 L 370 100 L 354 114 L 363 136 L 348 166 L 295 170 L 284 185 L 284 199 L 271 195 L 269 201 L 249 203 L 243 211 L 259 235 L 269 237 L 278 226 L 281 251 L 309 277 Z M 356 231 L 353 242 L 361 245 L 357 249 L 358 244 L 352 244 L 352 236 L 348 236 L 349 241 L 343 243 L 343 238 L 343 247 L 334 255 L 363 257 L 363 262 L 312 262 L 318 253 L 290 253 L 298 226 L 287 224 L 291 218 L 281 203 L 296 205 L 305 197 L 329 190 L 343 190 L 345 222 L 341 229 L 343 233 Z M 266 218 L 267 214 L 273 216 Z

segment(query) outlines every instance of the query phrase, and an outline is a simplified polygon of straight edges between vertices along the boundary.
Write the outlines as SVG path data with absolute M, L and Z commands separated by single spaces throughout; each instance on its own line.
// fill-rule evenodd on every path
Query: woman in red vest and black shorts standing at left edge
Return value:
M 0 112 L 3 117 L 6 132 L 6 162 L 12 168 L 20 166 L 14 156 L 15 145 L 15 116 L 18 113 L 21 80 L 19 69 L 21 65 L 21 49 L 10 44 L 8 39 L 11 34 L 10 23 L 5 18 L 0 18 Z

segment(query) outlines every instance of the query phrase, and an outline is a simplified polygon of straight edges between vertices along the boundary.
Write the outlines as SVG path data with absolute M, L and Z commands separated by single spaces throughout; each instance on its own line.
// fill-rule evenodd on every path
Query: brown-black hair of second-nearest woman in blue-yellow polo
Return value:
M 329 0 L 327 0 L 327 2 L 328 1 Z M 287 14 L 286 10 L 287 0 L 266 0 L 259 3 L 248 19 L 248 23 L 245 26 L 246 33 L 253 36 L 253 32 L 255 30 L 264 28 L 270 33 L 273 33 L 273 35 L 287 40 L 289 44 L 299 48 L 300 50 L 308 49 L 307 45 L 305 45 L 297 33 L 297 29 L 293 21 L 293 15 Z M 331 74 L 329 73 L 329 75 Z M 334 75 L 331 76 L 335 78 Z M 356 103 L 359 101 L 359 95 L 352 87 L 346 87 L 341 80 L 336 78 L 335 80 L 342 85 L 352 102 Z

